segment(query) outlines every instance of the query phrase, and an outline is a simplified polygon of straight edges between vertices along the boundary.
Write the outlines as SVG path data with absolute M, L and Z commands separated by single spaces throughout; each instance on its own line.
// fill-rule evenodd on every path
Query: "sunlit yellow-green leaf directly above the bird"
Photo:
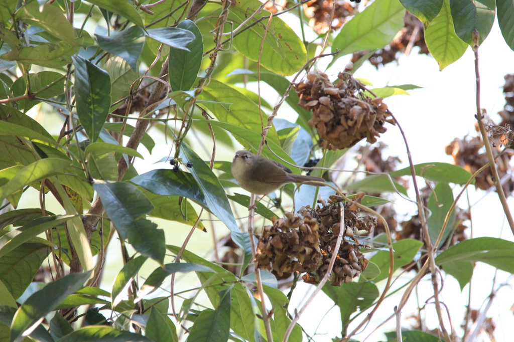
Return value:
M 232 103 L 230 110 L 214 103 L 204 103 L 203 106 L 209 109 L 219 121 L 261 133 L 262 123 L 259 106 L 234 88 L 219 81 L 211 80 L 209 85 L 199 94 L 198 99 Z M 263 112 L 262 117 L 264 125 L 266 125 L 268 116 Z M 213 123 L 212 121 L 209 122 Z M 273 127 L 269 129 L 268 140 L 280 144 L 277 132 Z

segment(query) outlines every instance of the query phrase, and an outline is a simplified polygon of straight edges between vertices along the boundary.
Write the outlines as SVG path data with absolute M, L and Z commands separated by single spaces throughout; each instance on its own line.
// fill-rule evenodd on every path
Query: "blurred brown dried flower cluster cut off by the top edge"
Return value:
M 319 34 L 337 30 L 347 22 L 347 17 L 357 14 L 357 9 L 352 4 L 340 0 L 311 0 L 306 2 L 303 8 L 310 18 L 309 26 Z M 334 21 L 331 22 L 333 9 Z

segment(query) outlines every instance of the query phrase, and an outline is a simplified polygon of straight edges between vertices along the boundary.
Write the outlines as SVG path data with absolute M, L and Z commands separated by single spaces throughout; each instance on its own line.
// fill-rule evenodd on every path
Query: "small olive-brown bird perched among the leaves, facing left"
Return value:
M 236 152 L 231 168 L 237 183 L 256 195 L 267 195 L 288 183 L 319 186 L 311 182 L 325 182 L 319 177 L 295 175 L 281 163 L 245 150 Z

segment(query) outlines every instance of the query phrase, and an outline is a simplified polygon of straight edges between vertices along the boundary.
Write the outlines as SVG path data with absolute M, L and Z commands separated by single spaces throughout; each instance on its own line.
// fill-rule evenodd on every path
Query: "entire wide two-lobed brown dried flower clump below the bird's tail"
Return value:
M 364 194 L 355 200 L 360 202 Z M 259 237 L 257 254 L 258 267 L 273 270 L 279 275 L 287 272 L 306 273 L 303 280 L 319 283 L 328 270 L 337 237 L 341 230 L 340 203 L 343 199 L 331 196 L 327 201 L 318 200 L 323 206 L 312 210 L 302 207 L 298 213 L 286 213 L 285 219 L 278 219 L 273 225 L 264 227 Z M 339 248 L 333 272 L 329 278 L 333 286 L 351 282 L 368 265 L 360 251 L 361 244 L 354 235 L 359 230 L 371 231 L 376 226 L 375 218 L 359 216 L 359 208 L 344 202 L 344 236 L 356 243 L 343 240 Z M 364 246 L 365 247 L 365 246 Z

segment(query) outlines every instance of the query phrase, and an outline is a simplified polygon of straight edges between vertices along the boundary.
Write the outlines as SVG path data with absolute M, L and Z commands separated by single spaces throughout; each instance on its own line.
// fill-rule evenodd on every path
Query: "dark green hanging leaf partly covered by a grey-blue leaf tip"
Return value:
M 189 90 L 196 81 L 198 71 L 200 70 L 204 42 L 201 38 L 200 30 L 192 21 L 182 21 L 177 27 L 193 32 L 195 39 L 186 46 L 189 51 L 176 48 L 170 49 L 170 85 L 173 91 Z

